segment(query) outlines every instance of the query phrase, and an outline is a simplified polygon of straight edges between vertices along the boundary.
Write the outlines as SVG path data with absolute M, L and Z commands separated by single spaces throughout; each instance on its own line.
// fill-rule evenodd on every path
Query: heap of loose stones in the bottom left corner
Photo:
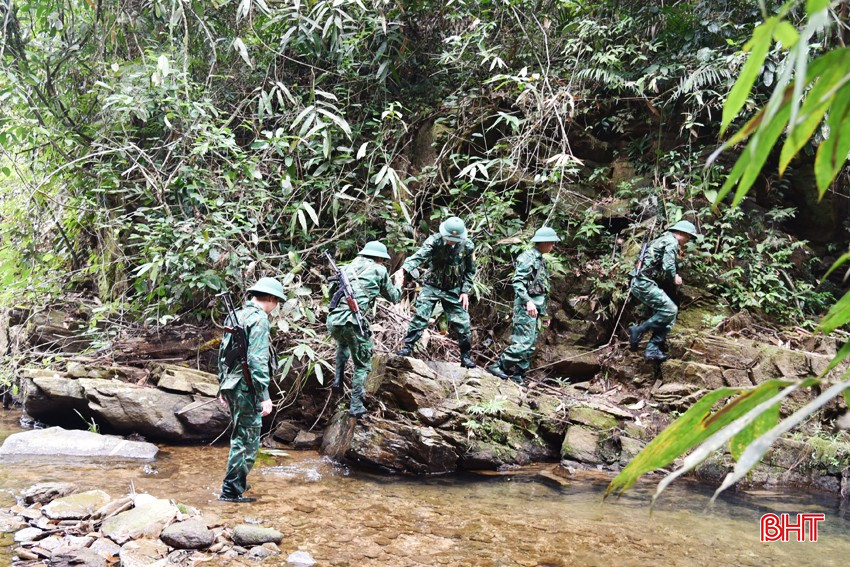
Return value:
M 54 567 L 161 567 L 194 565 L 220 557 L 262 560 L 281 555 L 280 531 L 254 524 L 227 525 L 217 516 L 150 494 L 113 498 L 73 483 L 41 483 L 0 509 L 0 532 L 12 534 L 16 565 Z M 281 563 L 309 567 L 306 552 Z

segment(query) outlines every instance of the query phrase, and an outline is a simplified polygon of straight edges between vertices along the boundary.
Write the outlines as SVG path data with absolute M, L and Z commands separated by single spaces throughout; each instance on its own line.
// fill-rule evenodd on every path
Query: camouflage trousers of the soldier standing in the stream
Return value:
M 227 457 L 227 471 L 224 473 L 221 494 L 236 497 L 245 492 L 248 473 L 257 459 L 263 418 L 244 382 L 240 382 L 233 390 L 222 390 L 221 393 L 227 401 L 233 421 L 230 454 Z

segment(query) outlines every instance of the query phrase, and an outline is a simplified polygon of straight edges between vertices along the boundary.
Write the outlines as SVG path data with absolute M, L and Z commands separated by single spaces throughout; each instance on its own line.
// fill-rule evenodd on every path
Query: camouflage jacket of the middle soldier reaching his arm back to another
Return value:
M 451 246 L 439 233 L 432 234 L 402 268 L 419 279 L 419 266 L 427 262 L 423 283 L 444 291 L 459 289 L 460 293 L 469 293 L 475 276 L 474 252 L 475 245 L 469 239 Z

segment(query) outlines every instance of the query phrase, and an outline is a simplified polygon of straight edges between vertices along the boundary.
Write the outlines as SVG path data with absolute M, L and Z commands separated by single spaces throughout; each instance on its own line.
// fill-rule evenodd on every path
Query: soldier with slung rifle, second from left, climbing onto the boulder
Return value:
M 384 267 L 384 261 L 389 260 L 387 247 L 373 240 L 367 242 L 366 246 L 351 264 L 343 267 L 351 287 L 354 290 L 355 299 L 363 313 L 371 310 L 375 298 L 381 297 L 392 303 L 398 303 L 401 299 L 401 289 L 390 282 L 390 276 Z M 333 388 L 342 389 L 342 376 L 345 373 L 345 364 L 349 357 L 354 359 L 354 375 L 351 380 L 351 404 L 348 415 L 360 417 L 366 413 L 363 405 L 363 383 L 372 366 L 372 340 L 369 323 L 366 322 L 364 329 L 366 334 L 360 332 L 357 320 L 349 309 L 345 300 L 340 301 L 328 313 L 328 333 L 336 339 L 336 368 Z

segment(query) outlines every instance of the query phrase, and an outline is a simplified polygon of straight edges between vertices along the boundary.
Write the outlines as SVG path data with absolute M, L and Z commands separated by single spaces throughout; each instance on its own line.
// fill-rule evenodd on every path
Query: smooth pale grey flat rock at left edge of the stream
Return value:
M 152 443 L 61 427 L 15 433 L 0 447 L 0 455 L 67 455 L 143 460 L 153 459 L 158 451 Z

